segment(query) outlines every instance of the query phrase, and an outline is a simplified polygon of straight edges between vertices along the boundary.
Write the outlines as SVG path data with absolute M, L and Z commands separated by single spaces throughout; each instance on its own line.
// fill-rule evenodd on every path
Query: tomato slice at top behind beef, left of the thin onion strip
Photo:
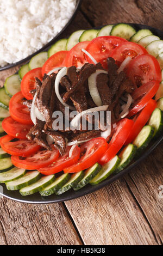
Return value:
M 85 54 L 82 49 L 85 49 L 90 41 L 79 42 L 67 54 L 65 59 L 66 66 L 83 66 L 86 63 Z

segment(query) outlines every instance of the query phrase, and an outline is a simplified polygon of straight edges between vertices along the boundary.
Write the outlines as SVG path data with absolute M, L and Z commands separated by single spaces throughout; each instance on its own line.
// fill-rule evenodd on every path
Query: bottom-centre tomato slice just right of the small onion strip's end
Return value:
M 77 173 L 85 170 L 97 163 L 100 157 L 108 149 L 108 143 L 104 138 L 94 138 L 86 142 L 81 147 L 81 153 L 84 154 L 76 164 L 64 169 L 65 173 Z

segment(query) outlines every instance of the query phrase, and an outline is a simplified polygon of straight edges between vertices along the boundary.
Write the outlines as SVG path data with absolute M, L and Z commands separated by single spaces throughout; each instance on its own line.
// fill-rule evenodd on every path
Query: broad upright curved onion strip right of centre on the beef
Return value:
M 107 71 L 98 69 L 98 70 L 96 70 L 95 73 L 93 73 L 89 77 L 89 80 L 88 80 L 89 91 L 90 91 L 92 100 L 95 102 L 96 106 L 102 106 L 101 96 L 99 95 L 99 92 L 98 92 L 98 89 L 96 86 L 96 77 L 101 73 L 108 74 Z

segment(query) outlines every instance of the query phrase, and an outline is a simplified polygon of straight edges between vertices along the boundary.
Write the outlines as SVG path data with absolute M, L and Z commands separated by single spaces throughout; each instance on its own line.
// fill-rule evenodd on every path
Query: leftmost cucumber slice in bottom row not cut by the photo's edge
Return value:
M 33 184 L 39 180 L 40 177 L 41 174 L 37 170 L 32 170 L 31 172 L 27 172 L 19 179 L 5 182 L 5 185 L 7 186 L 8 190 L 20 190 L 23 187 Z

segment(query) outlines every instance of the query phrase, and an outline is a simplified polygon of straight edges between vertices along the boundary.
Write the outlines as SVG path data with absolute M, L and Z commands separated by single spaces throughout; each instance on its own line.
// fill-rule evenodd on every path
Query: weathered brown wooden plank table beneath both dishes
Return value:
M 63 37 L 114 22 L 162 29 L 162 7 L 162 0 L 84 0 Z M 1 85 L 17 69 L 0 72 Z M 162 146 L 122 179 L 82 198 L 47 205 L 0 199 L 0 244 L 161 245 Z

